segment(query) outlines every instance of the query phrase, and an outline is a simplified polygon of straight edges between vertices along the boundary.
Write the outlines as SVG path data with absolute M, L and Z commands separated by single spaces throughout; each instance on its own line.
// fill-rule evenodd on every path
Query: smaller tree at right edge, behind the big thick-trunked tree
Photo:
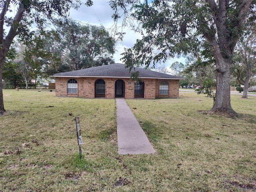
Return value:
M 250 80 L 256 75 L 256 28 L 250 28 L 238 40 L 233 73 L 244 85 L 242 98 L 248 98 Z

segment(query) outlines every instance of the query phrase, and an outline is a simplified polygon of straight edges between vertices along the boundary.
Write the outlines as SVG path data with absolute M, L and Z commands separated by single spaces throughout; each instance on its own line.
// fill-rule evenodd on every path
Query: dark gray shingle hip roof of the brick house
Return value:
M 63 72 L 54 74 L 54 77 L 123 77 L 130 78 L 132 72 L 139 72 L 140 78 L 157 78 L 157 79 L 184 79 L 182 77 L 164 74 L 152 70 L 134 67 L 135 70 L 129 72 L 128 68 L 124 67 L 124 64 L 116 63 L 110 65 L 103 65 L 97 67 L 91 67 L 76 71 Z

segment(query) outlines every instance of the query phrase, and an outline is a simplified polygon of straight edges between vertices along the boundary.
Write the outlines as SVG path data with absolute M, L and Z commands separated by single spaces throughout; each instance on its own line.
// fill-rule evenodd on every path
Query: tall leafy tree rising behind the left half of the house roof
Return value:
M 64 61 L 73 70 L 114 63 L 115 40 L 103 26 L 60 21 L 59 35 L 64 51 Z

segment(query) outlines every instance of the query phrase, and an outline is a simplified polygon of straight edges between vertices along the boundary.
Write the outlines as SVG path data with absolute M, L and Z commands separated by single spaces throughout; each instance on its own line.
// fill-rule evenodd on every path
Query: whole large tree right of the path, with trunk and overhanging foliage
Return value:
M 230 76 L 234 48 L 244 30 L 252 0 L 155 0 L 133 6 L 144 37 L 126 50 L 123 60 L 132 66 L 165 62 L 174 54 L 197 53 L 209 44 L 216 69 L 216 100 L 210 113 L 236 116 L 230 102 Z M 145 35 L 146 34 L 146 35 Z M 157 51 L 156 51 L 157 50 Z M 156 54 L 154 54 L 156 52 Z

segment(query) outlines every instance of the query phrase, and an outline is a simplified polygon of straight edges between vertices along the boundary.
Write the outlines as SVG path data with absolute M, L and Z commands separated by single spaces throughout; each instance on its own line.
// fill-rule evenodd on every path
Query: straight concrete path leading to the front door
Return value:
M 124 98 L 116 98 L 118 154 L 154 154 L 146 134 Z

